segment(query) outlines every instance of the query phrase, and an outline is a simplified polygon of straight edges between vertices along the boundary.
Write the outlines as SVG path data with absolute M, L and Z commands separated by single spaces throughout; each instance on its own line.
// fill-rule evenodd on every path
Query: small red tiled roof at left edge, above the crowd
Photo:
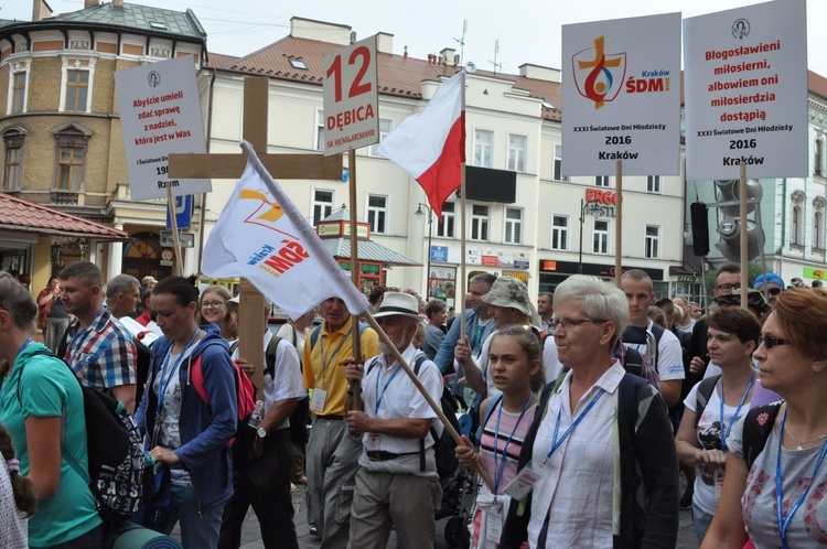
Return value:
M 0 230 L 93 238 L 96 240 L 129 239 L 129 235 L 123 230 L 107 227 L 6 193 L 0 193 Z

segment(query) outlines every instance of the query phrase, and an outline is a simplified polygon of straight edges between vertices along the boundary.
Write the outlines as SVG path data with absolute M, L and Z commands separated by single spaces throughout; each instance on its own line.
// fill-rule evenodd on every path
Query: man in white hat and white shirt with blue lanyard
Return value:
M 442 395 L 437 365 L 411 341 L 421 322 L 415 295 L 386 292 L 374 314 L 434 401 Z M 402 370 L 385 343 L 380 354 L 351 363 L 348 383 L 362 381 L 364 411 L 347 412 L 352 433 L 362 434 L 363 450 L 351 506 L 353 549 L 385 547 L 391 527 L 405 547 L 431 549 L 436 536 L 434 509 L 441 488 L 430 434 L 437 413 Z M 350 389 L 348 389 L 350 390 Z M 441 423 L 437 421 L 437 430 Z

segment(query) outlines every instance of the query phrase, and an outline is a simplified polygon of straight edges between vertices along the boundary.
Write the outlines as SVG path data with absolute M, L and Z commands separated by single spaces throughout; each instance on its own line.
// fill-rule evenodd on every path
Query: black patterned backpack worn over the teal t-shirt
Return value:
M 51 356 L 72 367 L 51 351 L 39 349 L 32 356 Z M 72 375 L 75 376 L 74 370 Z M 77 377 L 75 376 L 77 379 Z M 22 372 L 21 372 L 22 380 Z M 140 505 L 154 495 L 151 466 L 144 469 L 143 439 L 135 419 L 114 397 L 77 379 L 84 399 L 86 417 L 86 450 L 88 455 L 89 489 L 97 502 L 98 514 L 108 532 L 138 512 Z M 18 386 L 20 400 L 20 386 Z M 80 465 L 66 460 L 80 477 Z M 144 474 L 146 472 L 146 474 Z

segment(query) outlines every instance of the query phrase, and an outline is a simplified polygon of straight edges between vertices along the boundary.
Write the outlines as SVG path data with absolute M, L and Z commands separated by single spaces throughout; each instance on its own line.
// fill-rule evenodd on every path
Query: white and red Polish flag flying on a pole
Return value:
M 428 107 L 406 118 L 379 143 L 389 158 L 422 186 L 439 218 L 442 204 L 462 182 L 465 162 L 465 72 L 437 89 Z

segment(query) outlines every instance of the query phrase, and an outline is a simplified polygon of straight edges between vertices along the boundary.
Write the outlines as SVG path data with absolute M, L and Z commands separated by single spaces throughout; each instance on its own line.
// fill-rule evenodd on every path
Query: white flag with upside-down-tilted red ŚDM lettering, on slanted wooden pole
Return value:
M 207 277 L 249 280 L 291 319 L 327 298 L 341 298 L 352 314 L 368 308 L 253 147 L 241 141 L 247 168 L 215 224 L 202 259 Z

